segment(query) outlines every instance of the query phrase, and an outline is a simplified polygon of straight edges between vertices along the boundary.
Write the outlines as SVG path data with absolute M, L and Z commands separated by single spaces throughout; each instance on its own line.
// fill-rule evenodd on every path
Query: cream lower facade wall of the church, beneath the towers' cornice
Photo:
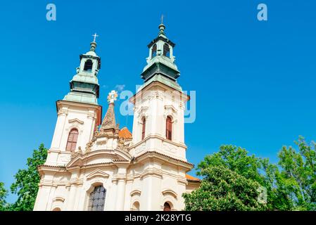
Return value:
M 124 167 L 113 166 L 73 169 L 71 174 L 47 173 L 42 177 L 34 210 L 88 210 L 89 193 L 98 185 L 106 188 L 106 211 L 131 210 L 135 202 L 139 202 L 140 210 L 163 210 L 165 202 L 172 210 L 183 210 L 182 193 L 187 192 L 184 174 L 158 161 L 131 165 L 126 173 Z

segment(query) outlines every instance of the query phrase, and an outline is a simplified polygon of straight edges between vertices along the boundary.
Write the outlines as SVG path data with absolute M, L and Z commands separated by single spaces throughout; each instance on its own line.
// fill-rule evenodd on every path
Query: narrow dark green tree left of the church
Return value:
M 43 165 L 46 157 L 47 149 L 41 144 L 38 150 L 34 150 L 32 158 L 27 158 L 27 169 L 19 169 L 15 174 L 11 192 L 18 195 L 18 200 L 11 205 L 11 210 L 33 210 L 40 180 L 37 166 Z

